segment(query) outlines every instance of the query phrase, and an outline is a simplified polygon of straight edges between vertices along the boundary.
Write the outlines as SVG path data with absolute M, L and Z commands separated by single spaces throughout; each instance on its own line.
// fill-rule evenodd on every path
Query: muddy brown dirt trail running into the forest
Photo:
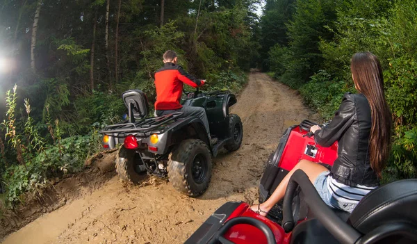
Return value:
M 311 114 L 294 90 L 256 72 L 231 113 L 243 122 L 242 147 L 213 159 L 211 185 L 201 197 L 181 195 L 153 177 L 127 186 L 113 174 L 3 243 L 183 243 L 224 202 L 257 202 L 265 161 L 284 129 Z

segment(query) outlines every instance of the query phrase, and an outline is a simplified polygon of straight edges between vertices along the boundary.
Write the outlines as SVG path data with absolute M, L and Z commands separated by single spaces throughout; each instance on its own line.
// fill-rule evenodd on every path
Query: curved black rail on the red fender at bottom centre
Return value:
M 246 225 L 252 225 L 258 229 L 260 229 L 263 234 L 265 234 L 266 240 L 268 241 L 268 244 L 276 244 L 277 241 L 275 241 L 274 233 L 272 233 L 272 230 L 268 225 L 265 225 L 265 223 L 261 222 L 260 220 L 256 220 L 256 218 L 250 218 L 250 217 L 237 217 L 232 218 L 231 220 L 228 220 L 221 229 L 219 229 L 218 233 L 215 234 L 213 238 L 208 242 L 208 244 L 215 244 L 218 243 L 221 236 L 226 234 L 226 232 L 235 225 L 240 224 L 246 224 Z

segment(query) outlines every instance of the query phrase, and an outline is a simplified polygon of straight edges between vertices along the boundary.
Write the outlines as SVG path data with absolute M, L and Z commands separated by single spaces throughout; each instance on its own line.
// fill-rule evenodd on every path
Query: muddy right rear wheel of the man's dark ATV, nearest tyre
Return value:
M 202 195 L 211 180 L 211 154 L 202 140 L 183 140 L 170 154 L 168 177 L 180 193 L 190 197 Z

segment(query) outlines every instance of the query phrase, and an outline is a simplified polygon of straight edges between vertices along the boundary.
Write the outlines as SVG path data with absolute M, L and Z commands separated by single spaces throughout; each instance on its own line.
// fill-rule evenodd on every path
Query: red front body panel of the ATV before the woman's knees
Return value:
M 307 133 L 308 131 L 304 131 L 300 129 L 300 127 L 295 127 L 291 131 L 286 142 L 286 147 L 284 148 L 281 158 L 279 159 L 279 168 L 290 171 L 302 159 L 315 163 L 333 165 L 337 158 L 338 143 L 334 143 L 331 147 L 322 147 L 316 144 L 314 136 L 304 136 Z M 317 154 L 315 158 L 304 154 L 307 145 L 314 145 L 317 147 Z

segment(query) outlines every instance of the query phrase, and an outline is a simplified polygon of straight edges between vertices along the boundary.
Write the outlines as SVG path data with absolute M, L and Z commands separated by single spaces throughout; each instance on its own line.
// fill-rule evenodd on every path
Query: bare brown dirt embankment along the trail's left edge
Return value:
M 52 179 L 43 192 L 26 195 L 25 204 L 1 212 L 0 240 L 13 231 L 36 220 L 85 194 L 92 193 L 115 176 L 115 150 L 90 158 L 88 167 L 79 174 L 67 174 L 63 179 Z M 1 209 L 5 209 L 0 206 Z

